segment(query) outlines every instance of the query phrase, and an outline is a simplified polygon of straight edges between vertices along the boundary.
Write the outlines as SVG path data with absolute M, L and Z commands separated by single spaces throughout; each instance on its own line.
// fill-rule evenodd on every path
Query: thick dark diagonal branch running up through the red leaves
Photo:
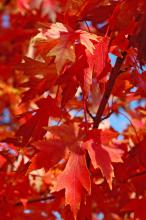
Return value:
M 119 75 L 119 71 L 120 71 L 120 68 L 123 64 L 123 61 L 125 60 L 125 57 L 126 57 L 126 52 L 123 53 L 122 58 L 120 58 L 120 57 L 117 58 L 116 64 L 115 64 L 114 68 L 112 69 L 109 81 L 106 84 L 105 92 L 103 94 L 103 97 L 101 99 L 99 108 L 97 110 L 97 113 L 96 113 L 96 116 L 95 116 L 95 119 L 94 119 L 93 128 L 98 128 L 100 122 L 102 121 L 101 117 L 104 113 L 106 104 L 109 100 L 110 94 L 112 92 L 112 88 L 114 86 L 116 78 Z

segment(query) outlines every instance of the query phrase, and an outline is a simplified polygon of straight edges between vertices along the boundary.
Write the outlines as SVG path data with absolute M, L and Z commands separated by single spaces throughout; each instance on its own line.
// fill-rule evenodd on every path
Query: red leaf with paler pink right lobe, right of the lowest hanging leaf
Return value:
M 84 147 L 88 150 L 93 167 L 95 169 L 100 168 L 110 188 L 112 188 L 112 180 L 114 178 L 112 162 L 122 162 L 123 151 L 104 146 L 98 130 L 89 133 L 89 139 L 84 143 Z

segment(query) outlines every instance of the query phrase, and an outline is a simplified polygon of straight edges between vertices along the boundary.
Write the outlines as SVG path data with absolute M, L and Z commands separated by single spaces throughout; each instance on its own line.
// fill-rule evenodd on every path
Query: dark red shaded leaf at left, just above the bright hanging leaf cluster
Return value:
M 36 141 L 43 137 L 46 133 L 44 127 L 48 125 L 49 116 L 60 117 L 62 115 L 55 100 L 50 96 L 39 100 L 37 104 L 39 109 L 17 131 L 16 136 L 20 138 L 23 145 L 28 144 L 31 139 Z

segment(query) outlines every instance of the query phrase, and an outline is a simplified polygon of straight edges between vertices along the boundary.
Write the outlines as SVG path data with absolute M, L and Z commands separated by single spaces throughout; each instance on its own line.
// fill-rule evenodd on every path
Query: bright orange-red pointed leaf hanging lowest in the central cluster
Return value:
M 65 170 L 57 178 L 56 191 L 65 189 L 66 205 L 71 206 L 71 210 L 76 218 L 83 188 L 90 194 L 90 177 L 86 166 L 85 155 L 71 153 Z

